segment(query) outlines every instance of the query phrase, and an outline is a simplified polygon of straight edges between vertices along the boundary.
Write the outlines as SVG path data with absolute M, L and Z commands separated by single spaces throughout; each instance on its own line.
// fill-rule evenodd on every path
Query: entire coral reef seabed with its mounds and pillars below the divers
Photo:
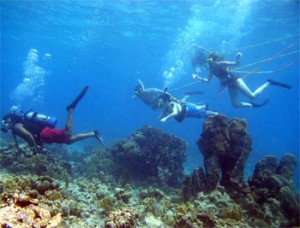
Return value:
M 0 225 L 298 227 L 295 156 L 279 164 L 264 157 L 246 182 L 246 128 L 244 120 L 207 118 L 198 141 L 205 169 L 185 180 L 186 143 L 148 126 L 112 150 L 88 146 L 83 153 L 56 145 L 35 155 L 0 137 Z

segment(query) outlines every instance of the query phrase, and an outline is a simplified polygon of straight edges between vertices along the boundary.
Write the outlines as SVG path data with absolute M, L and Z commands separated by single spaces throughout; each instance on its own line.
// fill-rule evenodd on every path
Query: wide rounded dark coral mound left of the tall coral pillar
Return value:
M 145 126 L 112 149 L 117 173 L 133 180 L 146 180 L 169 186 L 181 183 L 187 143 L 158 128 Z

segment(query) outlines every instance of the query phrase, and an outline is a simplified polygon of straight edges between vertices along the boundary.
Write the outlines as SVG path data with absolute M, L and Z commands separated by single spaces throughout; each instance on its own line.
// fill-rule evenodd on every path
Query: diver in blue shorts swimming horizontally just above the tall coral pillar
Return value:
M 182 122 L 185 118 L 206 118 L 209 115 L 218 115 L 219 113 L 210 111 L 207 105 L 196 105 L 188 103 L 185 100 L 189 97 L 186 95 L 182 100 L 172 99 L 168 94 L 163 95 L 159 100 L 159 107 L 163 110 L 160 121 L 165 122 L 174 117 L 177 122 Z

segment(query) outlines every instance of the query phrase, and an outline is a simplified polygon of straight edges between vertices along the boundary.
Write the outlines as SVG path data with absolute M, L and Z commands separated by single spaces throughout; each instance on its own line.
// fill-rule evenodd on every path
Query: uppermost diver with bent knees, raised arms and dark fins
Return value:
M 203 59 L 203 56 L 201 57 L 202 57 L 201 59 Z M 238 92 L 242 93 L 243 95 L 245 95 L 250 99 L 255 99 L 259 94 L 261 94 L 267 87 L 271 85 L 280 86 L 286 89 L 291 89 L 290 85 L 268 79 L 267 82 L 265 82 L 260 87 L 258 87 L 254 92 L 252 92 L 242 78 L 235 76 L 229 70 L 229 67 L 240 65 L 241 57 L 242 57 L 242 53 L 238 52 L 236 54 L 236 61 L 230 62 L 230 61 L 225 61 L 223 57 L 220 57 L 215 52 L 212 52 L 208 55 L 207 58 L 208 67 L 209 67 L 208 76 L 206 78 L 200 77 L 198 75 L 199 72 L 197 72 L 197 68 L 196 68 L 195 70 L 197 74 L 193 74 L 192 77 L 202 82 L 209 82 L 213 78 L 213 76 L 216 76 L 220 80 L 221 86 L 228 88 L 232 105 L 235 108 L 243 108 L 243 107 L 258 108 L 269 102 L 269 99 L 265 100 L 261 104 L 256 104 L 254 102 L 239 102 Z M 202 62 L 199 64 L 202 64 Z M 196 63 L 194 63 L 193 60 L 192 60 L 192 65 L 193 66 L 196 65 Z

